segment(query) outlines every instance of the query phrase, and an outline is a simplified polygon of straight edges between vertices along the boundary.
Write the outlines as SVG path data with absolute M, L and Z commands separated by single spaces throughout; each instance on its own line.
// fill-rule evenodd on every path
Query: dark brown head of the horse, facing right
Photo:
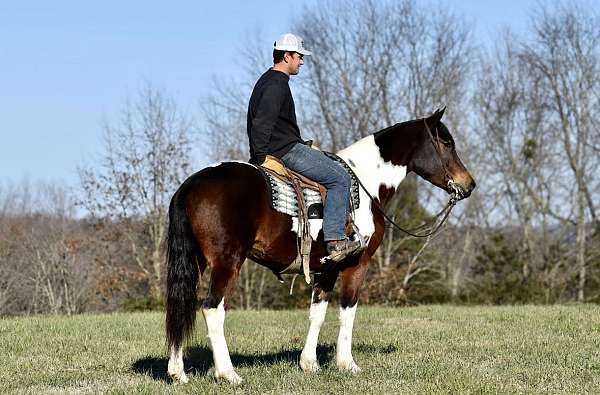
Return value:
M 471 195 L 475 180 L 456 152 L 450 131 L 442 122 L 445 107 L 415 123 L 417 138 L 407 170 L 414 171 L 457 199 Z

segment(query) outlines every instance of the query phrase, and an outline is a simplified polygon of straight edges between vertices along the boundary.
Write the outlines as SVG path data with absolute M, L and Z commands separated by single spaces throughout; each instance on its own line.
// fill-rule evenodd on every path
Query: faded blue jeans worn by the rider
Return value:
M 327 188 L 327 199 L 323 208 L 324 239 L 329 241 L 345 238 L 352 181 L 346 170 L 321 151 L 300 143 L 296 143 L 281 160 L 290 169 Z

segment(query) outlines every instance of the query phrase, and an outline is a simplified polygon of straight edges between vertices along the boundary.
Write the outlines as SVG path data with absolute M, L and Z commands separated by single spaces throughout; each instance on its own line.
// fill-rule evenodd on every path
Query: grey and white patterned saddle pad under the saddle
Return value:
M 339 162 L 346 171 L 350 169 L 346 162 L 344 162 L 337 155 L 330 153 L 326 153 L 326 155 Z M 267 180 L 269 195 L 271 197 L 271 207 L 280 213 L 291 215 L 292 217 L 298 217 L 298 200 L 292 184 L 285 182 L 269 172 L 261 169 L 260 166 L 258 166 L 258 168 L 261 170 L 261 173 Z M 354 174 L 350 172 L 350 175 L 352 176 L 350 196 L 352 198 L 354 209 L 357 209 L 360 203 L 358 193 L 359 185 Z M 322 219 L 323 199 L 321 198 L 321 194 L 308 188 L 303 188 L 302 194 L 304 196 L 305 206 L 308 209 L 308 218 Z

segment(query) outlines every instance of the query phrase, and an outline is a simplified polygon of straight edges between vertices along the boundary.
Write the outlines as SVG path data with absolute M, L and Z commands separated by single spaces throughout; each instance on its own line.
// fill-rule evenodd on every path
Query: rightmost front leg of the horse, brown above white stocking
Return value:
M 340 333 L 336 347 L 336 363 L 339 369 L 352 373 L 360 372 L 360 367 L 352 357 L 352 328 L 358 305 L 358 291 L 365 278 L 369 257 L 363 254 L 356 266 L 342 271 L 340 293 Z

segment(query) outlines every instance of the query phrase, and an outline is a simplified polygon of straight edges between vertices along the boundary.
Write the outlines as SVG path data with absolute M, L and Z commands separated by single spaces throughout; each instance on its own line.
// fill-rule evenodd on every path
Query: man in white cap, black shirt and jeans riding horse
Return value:
M 250 162 L 262 164 L 273 155 L 290 169 L 315 180 L 327 188 L 323 212 L 323 234 L 327 253 L 340 261 L 357 251 L 359 241 L 346 238 L 351 178 L 337 162 L 321 151 L 312 149 L 300 138 L 296 123 L 294 99 L 288 85 L 311 55 L 302 39 L 284 34 L 275 41 L 273 67 L 256 82 L 248 104 L 247 130 L 250 140 Z

